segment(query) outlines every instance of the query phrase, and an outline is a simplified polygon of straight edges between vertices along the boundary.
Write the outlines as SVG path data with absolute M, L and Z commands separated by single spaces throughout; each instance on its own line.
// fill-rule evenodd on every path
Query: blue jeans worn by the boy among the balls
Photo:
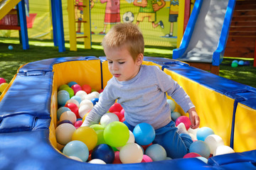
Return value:
M 134 126 L 129 125 L 127 121 L 124 121 L 124 124 L 127 125 L 129 130 L 133 131 Z M 178 135 L 176 130 L 175 123 L 171 120 L 169 124 L 155 130 L 156 137 L 153 141 L 153 144 L 157 143 L 164 147 L 164 149 L 166 149 L 167 157 L 171 157 L 172 159 L 182 158 L 187 154 L 189 147 L 193 142 L 189 135 Z

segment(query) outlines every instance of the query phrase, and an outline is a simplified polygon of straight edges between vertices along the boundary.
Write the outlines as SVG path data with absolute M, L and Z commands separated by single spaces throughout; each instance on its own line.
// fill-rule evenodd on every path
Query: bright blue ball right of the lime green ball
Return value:
M 154 128 L 149 123 L 139 123 L 133 130 L 135 142 L 139 145 L 149 145 L 156 137 Z

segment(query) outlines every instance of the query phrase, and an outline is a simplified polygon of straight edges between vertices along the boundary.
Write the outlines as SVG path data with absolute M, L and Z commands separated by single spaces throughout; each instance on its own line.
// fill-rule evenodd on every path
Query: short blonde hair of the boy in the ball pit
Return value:
M 142 53 L 144 55 L 144 38 L 139 27 L 133 23 L 118 23 L 113 26 L 102 40 L 103 48 L 127 47 L 135 61 Z

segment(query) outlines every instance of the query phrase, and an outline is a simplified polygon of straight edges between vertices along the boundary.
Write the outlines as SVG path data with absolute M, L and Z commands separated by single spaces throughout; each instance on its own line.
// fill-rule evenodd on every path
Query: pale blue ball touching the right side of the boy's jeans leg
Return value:
M 206 142 L 201 140 L 193 142 L 189 147 L 189 152 L 200 154 L 201 157 L 205 157 L 206 159 L 210 157 L 210 147 L 206 144 Z

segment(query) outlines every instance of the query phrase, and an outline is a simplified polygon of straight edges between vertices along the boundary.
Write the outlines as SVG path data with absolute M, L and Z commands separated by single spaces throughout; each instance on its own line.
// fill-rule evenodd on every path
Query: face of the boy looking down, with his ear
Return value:
M 138 74 L 143 61 L 142 54 L 139 54 L 137 60 L 134 62 L 127 47 L 114 47 L 105 49 L 104 52 L 107 56 L 110 73 L 118 81 L 128 81 Z

